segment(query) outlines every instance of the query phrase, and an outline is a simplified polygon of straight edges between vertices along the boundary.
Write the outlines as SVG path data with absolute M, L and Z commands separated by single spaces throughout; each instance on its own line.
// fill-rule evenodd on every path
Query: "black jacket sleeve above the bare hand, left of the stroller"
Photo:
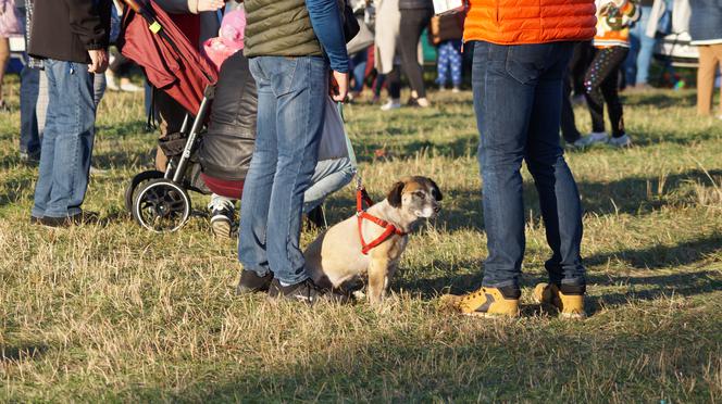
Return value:
M 71 31 L 77 35 L 85 49 L 98 50 L 108 47 L 108 28 L 100 16 L 105 0 L 64 0 L 70 10 Z M 110 9 L 109 9 L 110 10 Z

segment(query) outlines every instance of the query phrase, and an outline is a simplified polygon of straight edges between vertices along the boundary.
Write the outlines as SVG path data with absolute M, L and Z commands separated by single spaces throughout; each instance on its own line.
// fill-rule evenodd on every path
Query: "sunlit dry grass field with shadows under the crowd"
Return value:
M 523 317 L 488 321 L 438 310 L 444 291 L 480 285 L 486 238 L 471 96 L 432 99 L 346 110 L 372 195 L 409 174 L 446 195 L 377 308 L 238 298 L 235 242 L 204 219 L 136 226 L 122 197 L 151 161 L 140 96 L 109 93 L 99 113 L 95 165 L 109 172 L 85 206 L 101 224 L 29 225 L 36 171 L 17 157 L 18 114 L 0 115 L 0 402 L 722 402 L 722 122 L 696 117 L 692 92 L 632 94 L 634 148 L 568 153 L 586 212 L 582 323 L 531 302 L 549 251 L 525 175 Z M 331 222 L 352 198 L 328 201 Z

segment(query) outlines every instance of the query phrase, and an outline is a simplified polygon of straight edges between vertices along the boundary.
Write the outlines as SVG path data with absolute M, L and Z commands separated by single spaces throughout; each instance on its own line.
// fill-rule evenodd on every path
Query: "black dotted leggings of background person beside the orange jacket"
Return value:
M 619 99 L 618 80 L 628 52 L 630 50 L 623 47 L 598 49 L 592 60 L 584 77 L 584 87 L 592 115 L 593 131 L 605 131 L 606 102 L 612 136 L 615 138 L 624 136 L 624 114 L 622 102 Z

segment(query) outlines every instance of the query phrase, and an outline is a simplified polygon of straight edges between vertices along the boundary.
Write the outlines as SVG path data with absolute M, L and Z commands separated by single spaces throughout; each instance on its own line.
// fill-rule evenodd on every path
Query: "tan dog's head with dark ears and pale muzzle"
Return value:
M 427 177 L 406 177 L 394 184 L 386 200 L 395 209 L 418 218 L 435 217 L 444 197 L 436 182 Z

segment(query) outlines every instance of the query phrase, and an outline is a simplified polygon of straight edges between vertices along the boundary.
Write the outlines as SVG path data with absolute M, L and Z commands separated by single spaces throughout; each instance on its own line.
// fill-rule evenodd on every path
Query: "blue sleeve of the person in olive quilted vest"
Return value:
M 348 72 L 348 52 L 344 39 L 341 13 L 336 0 L 306 0 L 311 25 L 321 46 L 328 55 L 331 68 Z

